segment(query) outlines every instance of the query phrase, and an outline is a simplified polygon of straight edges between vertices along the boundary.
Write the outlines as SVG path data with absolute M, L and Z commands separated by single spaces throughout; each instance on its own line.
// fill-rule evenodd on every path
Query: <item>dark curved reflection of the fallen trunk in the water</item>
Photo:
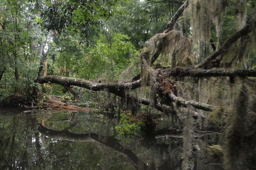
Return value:
M 136 167 L 136 169 L 148 169 L 145 163 L 143 163 L 138 157 L 128 149 L 125 149 L 119 141 L 115 139 L 114 136 L 100 136 L 96 133 L 85 133 L 85 134 L 76 134 L 71 133 L 66 129 L 64 130 L 52 130 L 45 128 L 42 124 L 38 125 L 38 131 L 45 136 L 71 141 L 71 142 L 94 142 L 98 144 L 102 144 L 108 148 L 112 148 L 117 151 L 119 154 L 126 156 L 132 164 Z

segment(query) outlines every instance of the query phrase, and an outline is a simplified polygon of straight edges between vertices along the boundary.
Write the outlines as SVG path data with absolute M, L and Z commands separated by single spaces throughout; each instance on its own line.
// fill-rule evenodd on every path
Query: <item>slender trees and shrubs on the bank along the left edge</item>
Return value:
M 31 96 L 37 76 L 40 51 L 36 43 L 45 36 L 36 26 L 34 5 L 28 1 L 1 1 L 0 3 L 0 87 L 1 99 L 12 96 Z M 18 104 L 18 103 L 17 103 Z

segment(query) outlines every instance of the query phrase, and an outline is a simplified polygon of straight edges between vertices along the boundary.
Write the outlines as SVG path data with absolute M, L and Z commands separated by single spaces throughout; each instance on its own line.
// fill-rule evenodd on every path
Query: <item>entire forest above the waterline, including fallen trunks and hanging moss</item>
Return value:
M 191 116 L 201 121 L 193 123 L 200 129 L 225 132 L 229 169 L 251 167 L 255 5 L 254 0 L 1 1 L 1 104 L 43 106 L 51 95 L 62 96 L 71 103 L 95 101 L 107 111 L 173 116 L 179 128 Z M 237 153 L 248 159 L 233 165 Z

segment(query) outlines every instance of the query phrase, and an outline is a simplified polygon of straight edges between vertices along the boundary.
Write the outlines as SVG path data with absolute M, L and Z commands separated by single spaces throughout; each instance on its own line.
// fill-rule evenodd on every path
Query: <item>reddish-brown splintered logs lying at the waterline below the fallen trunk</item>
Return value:
M 92 111 L 92 109 L 90 109 L 90 108 L 73 106 L 71 104 L 63 103 L 58 100 L 49 100 L 49 103 L 46 103 L 46 105 L 52 106 L 52 107 L 58 107 L 60 109 L 65 109 L 65 110 L 70 110 L 70 111 L 82 111 L 82 112 Z

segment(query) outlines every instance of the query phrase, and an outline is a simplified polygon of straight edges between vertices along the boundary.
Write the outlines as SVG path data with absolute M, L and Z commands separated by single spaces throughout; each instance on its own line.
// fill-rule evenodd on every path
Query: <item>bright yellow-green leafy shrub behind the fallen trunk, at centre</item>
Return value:
M 138 62 L 135 59 L 137 56 L 138 51 L 127 35 L 114 34 L 111 44 L 102 37 L 97 41 L 96 47 L 88 48 L 87 55 L 81 59 L 75 70 L 78 70 L 79 77 L 87 80 L 101 77 L 105 81 L 114 81 L 130 63 Z

